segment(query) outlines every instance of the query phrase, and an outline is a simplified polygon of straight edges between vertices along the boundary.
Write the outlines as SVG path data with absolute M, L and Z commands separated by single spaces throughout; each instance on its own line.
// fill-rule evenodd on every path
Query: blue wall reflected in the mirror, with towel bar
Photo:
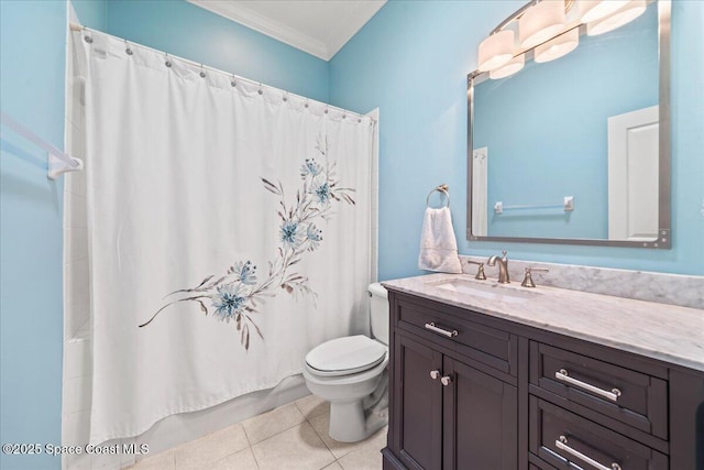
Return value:
M 488 147 L 488 234 L 608 239 L 606 120 L 658 105 L 658 72 L 651 3 L 616 31 L 581 36 L 564 57 L 530 61 L 518 74 L 475 86 L 473 146 Z M 574 211 L 494 214 L 497 200 L 561 204 L 563 196 L 574 197 Z

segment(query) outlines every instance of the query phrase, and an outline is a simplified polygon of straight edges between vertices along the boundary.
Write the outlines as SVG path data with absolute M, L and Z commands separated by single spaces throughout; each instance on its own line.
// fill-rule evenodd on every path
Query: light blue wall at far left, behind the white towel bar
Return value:
M 64 143 L 66 4 L 0 1 L 2 112 Z M 0 435 L 61 444 L 62 182 L 46 154 L 7 128 L 0 138 Z M 0 456 L 3 469 L 58 468 L 58 459 Z

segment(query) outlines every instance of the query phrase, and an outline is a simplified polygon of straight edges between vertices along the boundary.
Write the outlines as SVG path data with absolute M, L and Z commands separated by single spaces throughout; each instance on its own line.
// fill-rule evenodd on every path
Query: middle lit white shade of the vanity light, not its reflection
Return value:
M 564 29 L 564 1 L 543 0 L 518 19 L 518 41 L 528 50 L 541 44 Z

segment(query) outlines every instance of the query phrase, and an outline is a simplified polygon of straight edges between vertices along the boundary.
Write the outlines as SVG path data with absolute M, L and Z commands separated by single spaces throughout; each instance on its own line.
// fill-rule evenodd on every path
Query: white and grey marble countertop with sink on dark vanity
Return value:
M 448 286 L 453 280 L 458 282 Z M 703 309 L 548 286 L 527 288 L 516 282 L 496 285 L 466 274 L 428 274 L 382 285 L 704 372 Z M 473 292 L 475 287 L 481 291 Z

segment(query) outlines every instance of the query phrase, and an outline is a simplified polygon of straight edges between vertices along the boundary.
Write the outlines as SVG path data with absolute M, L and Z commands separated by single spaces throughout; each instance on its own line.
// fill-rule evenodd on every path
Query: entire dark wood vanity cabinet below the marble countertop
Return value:
M 704 373 L 393 289 L 389 306 L 384 469 L 704 470 Z

